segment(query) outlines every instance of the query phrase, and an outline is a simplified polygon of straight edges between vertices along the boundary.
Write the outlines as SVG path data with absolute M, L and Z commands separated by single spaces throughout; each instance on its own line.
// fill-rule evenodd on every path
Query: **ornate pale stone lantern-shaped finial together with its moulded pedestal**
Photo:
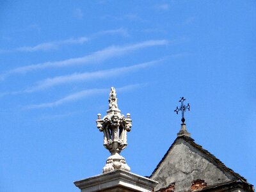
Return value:
M 127 131 L 131 131 L 131 115 L 126 117 L 118 109 L 116 91 L 111 87 L 109 93 L 109 109 L 107 114 L 101 118 L 98 114 L 96 120 L 97 128 L 104 133 L 103 145 L 110 152 L 102 174 L 77 180 L 74 184 L 81 192 L 151 192 L 157 182 L 130 172 L 124 157 L 120 152 L 127 146 Z

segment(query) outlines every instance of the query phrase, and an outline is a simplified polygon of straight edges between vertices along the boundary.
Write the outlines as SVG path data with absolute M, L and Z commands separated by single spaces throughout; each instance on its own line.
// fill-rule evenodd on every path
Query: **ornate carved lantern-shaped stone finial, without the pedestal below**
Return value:
M 120 113 L 116 91 L 113 87 L 111 87 L 108 101 L 109 109 L 107 115 L 101 118 L 99 113 L 96 120 L 97 128 L 104 133 L 103 145 L 111 153 L 103 168 L 103 173 L 113 170 L 130 171 L 124 157 L 120 156 L 120 152 L 127 146 L 127 131 L 131 131 L 132 127 L 131 115 L 127 113 L 127 117 L 125 117 Z

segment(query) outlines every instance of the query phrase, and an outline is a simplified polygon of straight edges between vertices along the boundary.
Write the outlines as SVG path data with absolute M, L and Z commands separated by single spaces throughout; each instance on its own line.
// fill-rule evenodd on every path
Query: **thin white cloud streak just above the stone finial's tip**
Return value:
M 137 65 L 131 65 L 129 67 L 120 67 L 120 68 L 111 68 L 108 70 L 99 70 L 96 72 L 84 72 L 84 73 L 74 73 L 67 76 L 57 76 L 45 79 L 36 84 L 36 86 L 32 88 L 28 88 L 24 92 L 31 93 L 40 90 L 45 90 L 46 88 L 50 88 L 53 86 L 58 86 L 60 84 L 74 83 L 79 81 L 92 81 L 93 79 L 102 79 L 107 77 L 115 77 L 120 76 L 120 74 L 124 74 L 127 72 L 134 72 L 136 70 L 140 70 L 142 68 L 147 68 L 152 65 L 156 65 L 162 60 L 154 60 L 145 63 L 140 63 Z

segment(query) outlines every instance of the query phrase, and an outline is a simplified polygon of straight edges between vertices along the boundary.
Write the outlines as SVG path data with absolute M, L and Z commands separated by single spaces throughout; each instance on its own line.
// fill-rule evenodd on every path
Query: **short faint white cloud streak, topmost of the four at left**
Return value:
M 31 46 L 19 47 L 17 48 L 17 51 L 24 51 L 24 52 L 49 51 L 52 49 L 58 49 L 61 45 L 83 44 L 86 41 L 88 41 L 88 38 L 84 36 L 79 38 L 69 38 L 67 40 L 46 42 L 46 43 L 38 44 L 32 47 Z

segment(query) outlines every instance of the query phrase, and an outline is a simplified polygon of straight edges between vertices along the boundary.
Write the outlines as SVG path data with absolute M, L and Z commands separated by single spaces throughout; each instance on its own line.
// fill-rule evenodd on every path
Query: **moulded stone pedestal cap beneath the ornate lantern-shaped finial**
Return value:
M 152 192 L 157 182 L 124 170 L 115 170 L 113 172 L 95 175 L 87 179 L 74 182 L 81 192 L 131 192 L 143 191 Z

